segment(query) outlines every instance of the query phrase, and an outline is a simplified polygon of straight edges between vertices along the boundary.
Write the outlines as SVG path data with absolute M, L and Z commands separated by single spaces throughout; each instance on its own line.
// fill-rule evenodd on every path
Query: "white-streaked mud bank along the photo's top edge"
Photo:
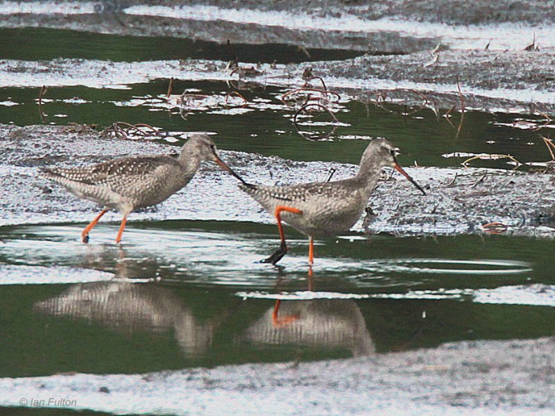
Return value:
M 543 46 L 552 46 L 550 33 L 555 12 L 549 4 L 502 1 L 484 4 L 434 1 L 97 1 L 5 2 L 2 27 L 66 28 L 117 35 L 189 37 L 236 43 L 296 44 L 305 48 L 354 49 L 384 53 L 411 53 L 433 48 L 439 40 L 454 46 L 472 37 L 481 47 L 492 39 L 492 48 L 519 49 L 520 39 L 509 31 L 535 32 Z M 56 13 L 56 15 L 54 15 Z M 429 26 L 425 26 L 429 25 Z M 473 28 L 489 35 L 468 35 Z M 459 35 L 452 29 L 458 27 Z M 466 40 L 464 40 L 466 38 Z M 472 41 L 470 41 L 472 42 Z M 497 44 L 496 44 L 497 42 Z M 499 43 L 503 43 L 500 46 Z M 474 47 L 480 47 L 475 44 Z M 459 47 L 457 46 L 457 47 Z M 520 48 L 522 49 L 522 48 Z

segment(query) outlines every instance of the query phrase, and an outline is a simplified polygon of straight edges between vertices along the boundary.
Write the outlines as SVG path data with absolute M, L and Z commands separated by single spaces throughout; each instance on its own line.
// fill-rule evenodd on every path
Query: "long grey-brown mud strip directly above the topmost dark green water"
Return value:
M 367 51 L 369 45 L 383 53 L 411 53 L 433 49 L 438 37 L 416 38 L 400 33 L 360 33 L 354 31 L 297 30 L 282 26 L 236 23 L 233 21 L 196 21 L 123 13 L 99 15 L 14 15 L 3 17 L 0 27 L 55 28 L 112 35 L 186 37 L 234 44 L 293 44 L 300 49 L 348 49 Z M 168 40 L 171 42 L 171 40 Z

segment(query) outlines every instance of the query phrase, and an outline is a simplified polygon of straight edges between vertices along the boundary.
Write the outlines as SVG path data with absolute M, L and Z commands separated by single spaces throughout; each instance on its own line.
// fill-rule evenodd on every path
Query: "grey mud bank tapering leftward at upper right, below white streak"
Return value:
M 391 80 L 411 84 L 422 91 L 442 91 L 450 86 L 456 91 L 461 84 L 467 105 L 480 105 L 480 100 L 505 98 L 533 105 L 555 105 L 555 51 L 461 51 L 413 53 L 401 56 L 362 56 L 342 62 L 315 62 L 314 71 L 323 78 L 351 80 L 353 85 L 368 85 Z M 468 91 L 474 94 L 466 94 Z M 474 98 L 472 97 L 474 96 Z M 478 99 L 476 96 L 482 96 Z M 511 98 L 511 99 L 509 99 Z M 422 96 L 416 101 L 422 101 Z

